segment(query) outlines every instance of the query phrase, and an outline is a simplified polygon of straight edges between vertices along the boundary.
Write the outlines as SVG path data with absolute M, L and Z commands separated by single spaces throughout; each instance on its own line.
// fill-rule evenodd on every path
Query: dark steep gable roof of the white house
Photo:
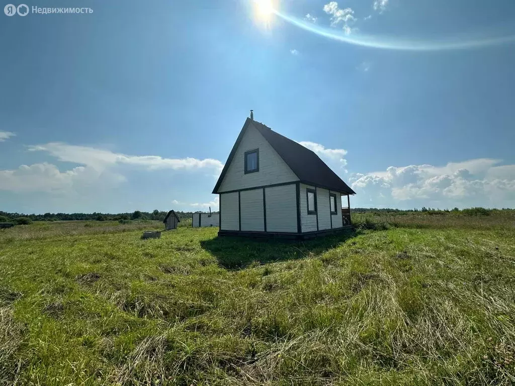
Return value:
M 286 138 L 284 135 L 276 133 L 261 122 L 256 122 L 250 118 L 247 118 L 242 131 L 236 139 L 236 143 L 234 144 L 231 153 L 229 154 L 229 158 L 224 165 L 224 169 L 222 170 L 215 188 L 213 189 L 213 194 L 217 194 L 227 170 L 229 169 L 229 165 L 236 153 L 236 149 L 250 125 L 263 135 L 270 146 L 279 154 L 286 165 L 289 166 L 291 171 L 297 175 L 300 182 L 327 188 L 329 190 L 339 191 L 344 194 L 356 194 L 356 192 L 352 190 L 341 178 L 339 178 L 336 173 L 332 171 L 318 155 L 315 154 L 315 152 L 305 148 L 295 141 L 291 141 L 291 139 Z

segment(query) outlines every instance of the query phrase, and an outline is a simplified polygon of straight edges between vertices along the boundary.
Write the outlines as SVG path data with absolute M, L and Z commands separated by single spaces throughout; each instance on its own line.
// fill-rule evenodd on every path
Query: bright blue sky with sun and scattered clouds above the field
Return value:
M 512 0 L 26 5 L 0 13 L 0 210 L 216 210 L 250 109 L 353 207 L 515 207 Z

